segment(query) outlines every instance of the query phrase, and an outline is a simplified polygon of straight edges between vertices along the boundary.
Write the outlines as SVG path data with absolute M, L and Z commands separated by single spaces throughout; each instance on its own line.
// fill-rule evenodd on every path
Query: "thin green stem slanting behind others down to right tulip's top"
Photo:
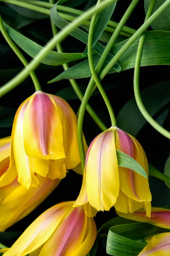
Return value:
M 50 3 L 54 3 L 54 0 L 49 0 Z M 55 36 L 57 34 L 57 27 L 55 26 L 55 24 L 52 22 L 51 20 L 51 29 L 52 29 L 52 33 L 53 36 Z M 56 44 L 56 48 L 58 52 L 63 52 L 62 51 L 62 46 L 61 44 Z M 62 64 L 62 67 L 64 70 L 68 70 L 69 66 L 67 63 Z M 81 92 L 81 90 L 79 89 L 79 86 L 77 84 L 77 82 L 74 79 L 69 79 L 69 82 L 74 90 L 74 92 L 76 93 L 77 97 L 80 99 L 80 101 L 82 102 L 83 99 L 83 94 Z M 99 126 L 99 128 L 102 131 L 105 131 L 107 129 L 107 127 L 104 125 L 104 123 L 99 119 L 99 117 L 96 115 L 96 113 L 94 112 L 94 110 L 91 108 L 90 105 L 86 106 L 86 109 L 89 113 L 89 115 L 94 119 L 94 121 L 96 122 L 96 124 Z

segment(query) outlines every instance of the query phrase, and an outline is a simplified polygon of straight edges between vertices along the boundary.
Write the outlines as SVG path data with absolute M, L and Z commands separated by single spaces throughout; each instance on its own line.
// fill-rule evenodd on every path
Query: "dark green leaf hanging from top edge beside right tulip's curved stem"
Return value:
M 112 3 L 110 6 L 106 7 L 102 12 L 99 12 L 99 15 L 97 17 L 95 27 L 94 27 L 92 47 L 94 47 L 94 45 L 97 43 L 102 33 L 104 32 L 105 27 L 108 25 L 108 22 L 116 7 L 116 3 L 117 1 Z M 83 55 L 86 55 L 87 53 L 88 53 L 88 46 L 86 46 Z

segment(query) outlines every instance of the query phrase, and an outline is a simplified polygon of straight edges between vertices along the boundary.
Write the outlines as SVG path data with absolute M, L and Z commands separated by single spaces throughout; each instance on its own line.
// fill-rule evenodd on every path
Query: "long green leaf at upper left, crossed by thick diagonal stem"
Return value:
M 26 38 L 24 35 L 21 35 L 16 30 L 12 29 L 6 23 L 4 23 L 6 30 L 12 40 L 21 48 L 23 51 L 28 53 L 32 58 L 34 58 L 41 49 L 42 46 L 35 43 L 29 38 Z M 82 53 L 62 53 L 62 52 L 54 52 L 50 51 L 48 55 L 42 60 L 42 63 L 51 65 L 51 66 L 58 66 L 64 63 L 68 63 L 70 61 L 75 61 L 82 59 Z

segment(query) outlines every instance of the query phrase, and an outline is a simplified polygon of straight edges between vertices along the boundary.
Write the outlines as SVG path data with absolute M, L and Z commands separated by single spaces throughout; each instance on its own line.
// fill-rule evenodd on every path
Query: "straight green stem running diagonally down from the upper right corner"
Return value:
M 129 38 L 129 40 L 124 44 L 124 46 L 119 50 L 119 52 L 114 55 L 114 57 L 111 59 L 111 61 L 107 64 L 107 66 L 102 70 L 100 73 L 100 80 L 102 80 L 108 72 L 111 70 L 111 68 L 114 66 L 116 61 L 119 60 L 119 58 L 127 51 L 127 49 L 136 41 L 137 38 L 139 38 L 140 35 L 150 26 L 151 23 L 162 13 L 165 9 L 170 5 L 170 0 L 166 0 L 154 13 L 151 15 L 148 20 L 135 32 L 134 35 Z

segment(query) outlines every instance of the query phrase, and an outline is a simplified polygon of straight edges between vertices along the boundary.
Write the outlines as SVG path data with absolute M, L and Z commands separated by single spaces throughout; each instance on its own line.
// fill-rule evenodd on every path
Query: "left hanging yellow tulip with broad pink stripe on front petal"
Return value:
M 37 91 L 20 105 L 12 128 L 10 173 L 13 163 L 27 188 L 39 183 L 34 173 L 62 179 L 66 169 L 80 163 L 77 117 L 65 100 Z

